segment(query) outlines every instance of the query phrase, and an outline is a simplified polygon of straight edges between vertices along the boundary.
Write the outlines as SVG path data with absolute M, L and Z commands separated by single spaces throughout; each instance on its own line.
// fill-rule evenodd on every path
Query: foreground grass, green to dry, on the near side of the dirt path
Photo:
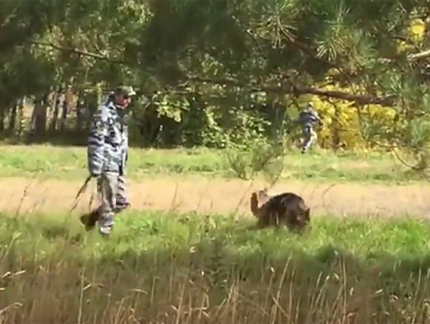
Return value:
M 4 322 L 430 320 L 424 221 L 316 218 L 297 237 L 234 217 L 129 211 L 103 239 L 72 216 L 0 218 Z

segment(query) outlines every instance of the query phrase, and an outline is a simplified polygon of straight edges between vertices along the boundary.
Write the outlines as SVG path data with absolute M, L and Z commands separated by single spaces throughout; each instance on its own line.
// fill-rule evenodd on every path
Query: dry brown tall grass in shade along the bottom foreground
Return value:
M 428 273 L 410 280 L 410 294 L 384 289 L 377 269 L 357 277 L 348 261 L 331 274 L 312 276 L 288 260 L 248 280 L 240 269 L 217 282 L 217 273 L 171 262 L 130 268 L 52 260 L 3 267 L 3 323 L 424 323 Z M 313 272 L 313 271 L 311 271 Z M 393 278 L 395 279 L 395 278 Z M 415 287 L 413 287 L 415 286 Z

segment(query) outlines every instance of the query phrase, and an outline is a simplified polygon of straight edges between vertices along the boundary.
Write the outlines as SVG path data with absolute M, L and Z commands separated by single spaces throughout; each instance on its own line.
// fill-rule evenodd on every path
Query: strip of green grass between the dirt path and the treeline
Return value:
M 143 174 L 190 174 L 236 177 L 225 152 L 208 149 L 131 149 L 129 177 Z M 3 146 L 0 148 L 0 176 L 76 178 L 87 174 L 86 151 L 76 147 Z M 289 153 L 284 158 L 283 178 L 332 181 L 417 180 L 390 155 L 379 153 L 333 153 L 312 155 Z

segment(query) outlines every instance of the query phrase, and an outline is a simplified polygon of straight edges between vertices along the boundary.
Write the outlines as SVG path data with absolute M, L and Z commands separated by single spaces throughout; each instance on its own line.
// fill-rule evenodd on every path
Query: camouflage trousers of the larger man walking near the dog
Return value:
M 97 193 L 101 201 L 99 232 L 103 236 L 108 236 L 112 232 L 114 214 L 129 205 L 125 195 L 124 176 L 118 172 L 103 172 L 97 179 Z

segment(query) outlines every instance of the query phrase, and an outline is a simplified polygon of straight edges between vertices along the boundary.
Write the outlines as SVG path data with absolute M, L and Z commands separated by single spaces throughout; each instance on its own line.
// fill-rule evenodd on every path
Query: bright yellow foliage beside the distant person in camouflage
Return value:
M 324 89 L 349 92 L 348 88 L 333 85 Z M 368 105 L 359 114 L 358 108 L 351 102 L 332 99 L 327 101 L 318 96 L 312 96 L 310 101 L 323 122 L 323 126 L 317 130 L 318 144 L 326 148 L 332 147 L 335 144 L 335 137 L 338 136 L 339 144 L 345 145 L 348 149 L 365 149 L 367 145 L 361 133 L 359 115 L 364 120 L 377 121 L 381 127 L 389 127 L 396 113 L 390 107 Z

